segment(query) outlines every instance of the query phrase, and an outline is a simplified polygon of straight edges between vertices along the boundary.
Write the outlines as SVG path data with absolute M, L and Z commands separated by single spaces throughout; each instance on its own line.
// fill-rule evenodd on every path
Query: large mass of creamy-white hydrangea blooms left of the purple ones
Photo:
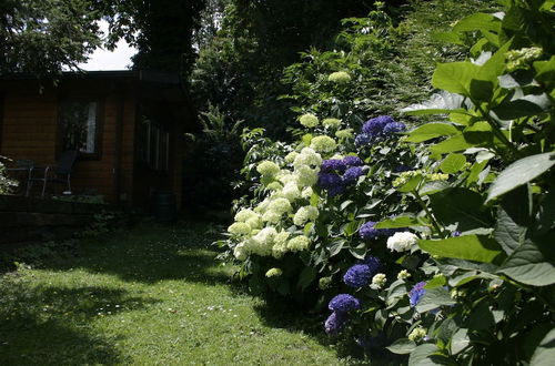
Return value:
M 335 142 L 332 140 L 335 144 Z M 282 257 L 287 252 L 301 252 L 310 247 L 305 235 L 294 235 L 283 228 L 303 227 L 319 217 L 319 210 L 309 204 L 312 186 L 317 182 L 322 156 L 311 148 L 291 152 L 284 167 L 263 161 L 256 165 L 269 196 L 253 209 L 243 209 L 235 222 L 228 227 L 239 244 L 234 256 L 244 261 L 249 255 Z

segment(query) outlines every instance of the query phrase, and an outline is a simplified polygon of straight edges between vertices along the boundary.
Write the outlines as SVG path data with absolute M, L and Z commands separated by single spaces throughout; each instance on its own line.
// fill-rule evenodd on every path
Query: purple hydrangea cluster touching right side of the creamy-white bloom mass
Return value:
M 362 165 L 364 162 L 359 156 L 324 160 L 320 167 L 317 184 L 332 197 L 342 194 L 364 174 Z

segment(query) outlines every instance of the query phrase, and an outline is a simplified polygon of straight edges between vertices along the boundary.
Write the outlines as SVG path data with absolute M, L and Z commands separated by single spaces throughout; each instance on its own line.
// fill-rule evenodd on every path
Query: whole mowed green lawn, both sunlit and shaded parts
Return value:
M 0 364 L 346 363 L 314 319 L 233 286 L 208 227 L 145 224 L 2 275 Z

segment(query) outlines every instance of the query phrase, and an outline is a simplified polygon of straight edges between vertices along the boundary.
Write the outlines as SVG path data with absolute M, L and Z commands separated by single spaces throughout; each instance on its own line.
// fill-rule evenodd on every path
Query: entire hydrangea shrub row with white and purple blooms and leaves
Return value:
M 553 360 L 553 2 L 506 6 L 442 35 L 474 42 L 470 60 L 440 64 L 443 91 L 404 110 L 448 120 L 307 113 L 256 164 L 260 199 L 224 243 L 252 288 L 319 294 L 326 333 L 393 364 Z

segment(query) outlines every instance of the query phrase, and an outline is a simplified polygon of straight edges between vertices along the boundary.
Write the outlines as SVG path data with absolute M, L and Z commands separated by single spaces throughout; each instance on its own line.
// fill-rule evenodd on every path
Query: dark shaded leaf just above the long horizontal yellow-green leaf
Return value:
M 430 195 L 434 216 L 444 225 L 457 224 L 460 231 L 491 227 L 492 221 L 480 193 L 456 187 Z

